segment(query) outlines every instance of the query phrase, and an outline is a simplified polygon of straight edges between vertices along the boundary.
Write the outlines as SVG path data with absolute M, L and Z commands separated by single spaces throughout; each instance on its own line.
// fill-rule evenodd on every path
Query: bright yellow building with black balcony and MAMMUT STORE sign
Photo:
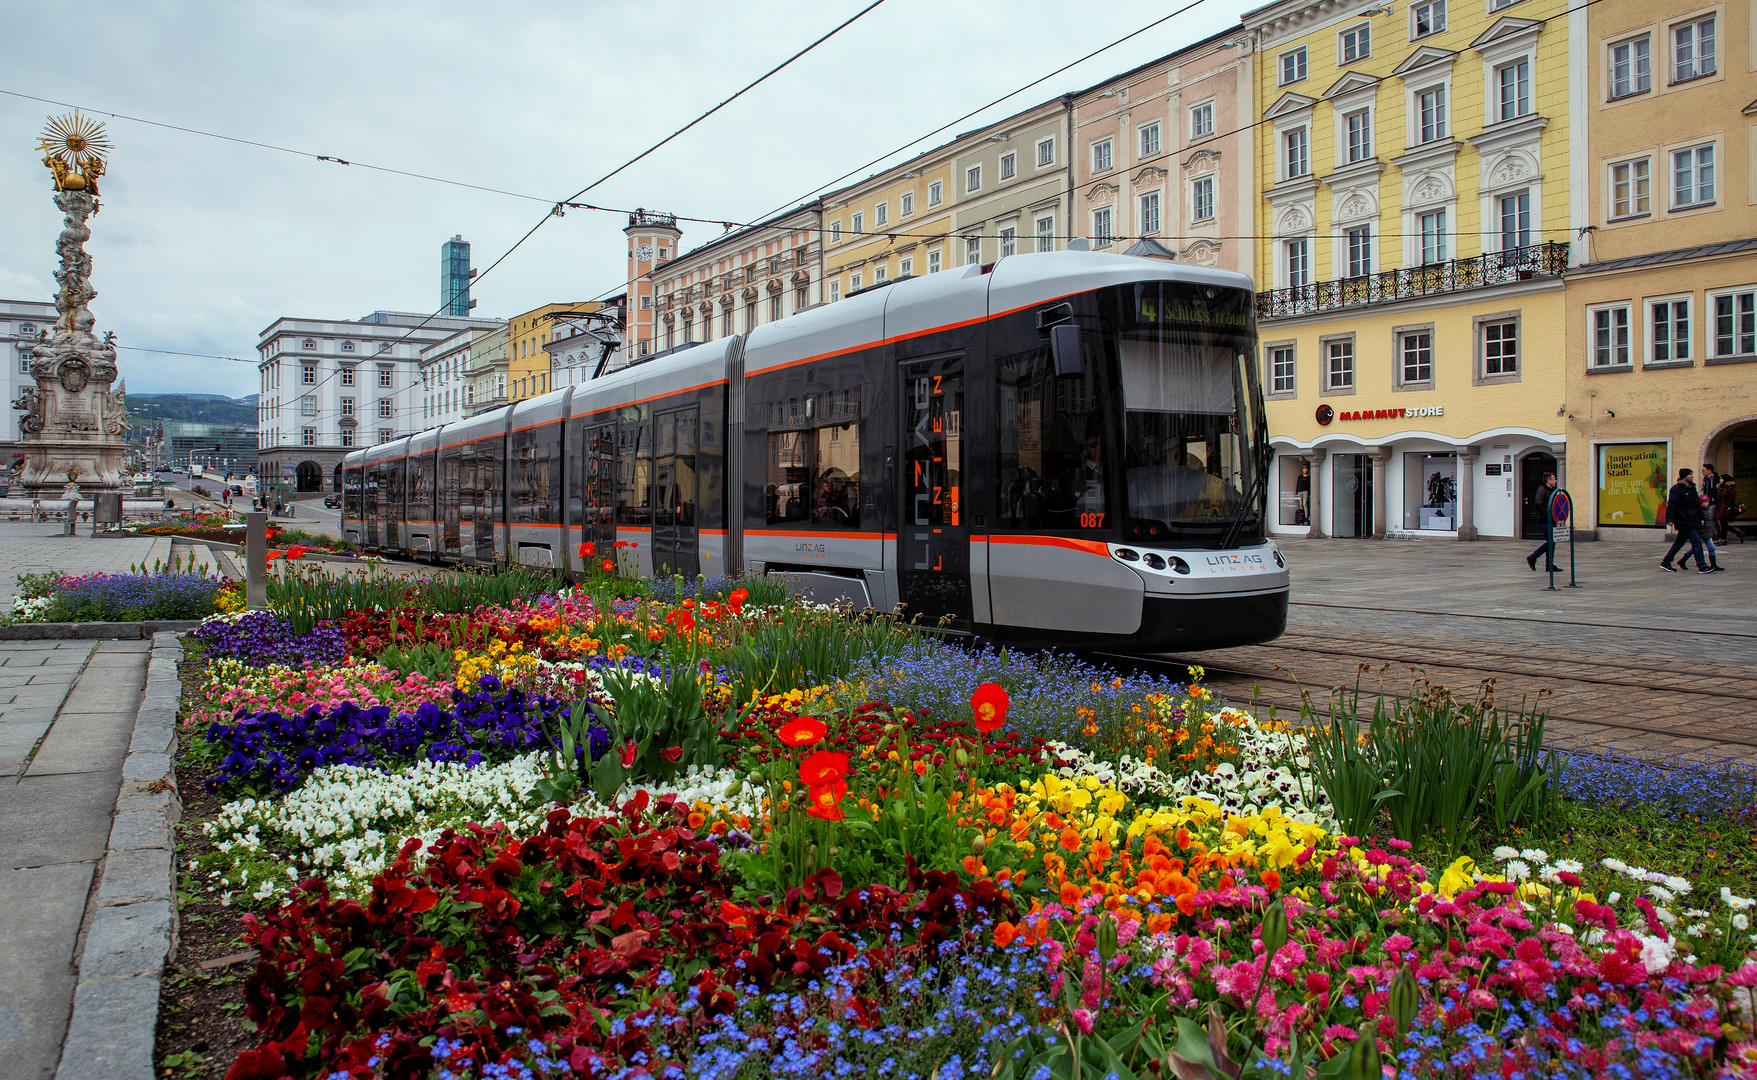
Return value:
M 1283 0 L 1256 40 L 1270 529 L 1520 536 L 1564 455 L 1564 0 Z

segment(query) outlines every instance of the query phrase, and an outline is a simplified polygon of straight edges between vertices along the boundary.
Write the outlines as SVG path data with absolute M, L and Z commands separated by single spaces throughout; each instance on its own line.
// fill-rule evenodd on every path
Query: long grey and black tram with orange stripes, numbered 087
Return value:
M 343 536 L 569 578 L 787 574 L 1021 644 L 1262 643 L 1290 576 L 1254 356 L 1240 274 L 1016 255 L 353 451 Z

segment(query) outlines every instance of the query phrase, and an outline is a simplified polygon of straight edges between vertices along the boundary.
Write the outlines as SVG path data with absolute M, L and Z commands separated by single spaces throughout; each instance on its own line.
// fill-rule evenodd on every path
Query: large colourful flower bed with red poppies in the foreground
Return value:
M 228 1076 L 1757 1069 L 1724 773 L 1704 817 L 1430 687 L 1290 727 L 733 583 L 404 601 L 193 636 Z

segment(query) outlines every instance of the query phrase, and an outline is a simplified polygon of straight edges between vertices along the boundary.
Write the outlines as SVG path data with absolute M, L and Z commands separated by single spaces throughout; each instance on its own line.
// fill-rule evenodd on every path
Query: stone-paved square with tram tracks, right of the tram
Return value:
M 1161 660 L 1202 664 L 1230 699 L 1256 690 L 1281 715 L 1298 709 L 1302 688 L 1323 706 L 1356 680 L 1370 699 L 1381 685 L 1407 690 L 1418 671 L 1462 694 L 1493 678 L 1500 702 L 1548 692 L 1560 748 L 1757 764 L 1757 544 L 1724 546 L 1727 572 L 1708 576 L 1662 572 L 1657 543 L 1580 544 L 1581 587 L 1558 592 L 1525 567 L 1529 544 L 1283 550 L 1293 567 L 1286 636 Z

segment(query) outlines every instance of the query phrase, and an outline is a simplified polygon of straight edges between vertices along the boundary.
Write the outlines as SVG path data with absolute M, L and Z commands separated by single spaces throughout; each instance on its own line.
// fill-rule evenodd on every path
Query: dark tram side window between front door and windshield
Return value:
M 1003 356 L 996 522 L 1009 529 L 1102 529 L 1109 469 L 1096 369 L 1056 378 L 1049 349 Z

